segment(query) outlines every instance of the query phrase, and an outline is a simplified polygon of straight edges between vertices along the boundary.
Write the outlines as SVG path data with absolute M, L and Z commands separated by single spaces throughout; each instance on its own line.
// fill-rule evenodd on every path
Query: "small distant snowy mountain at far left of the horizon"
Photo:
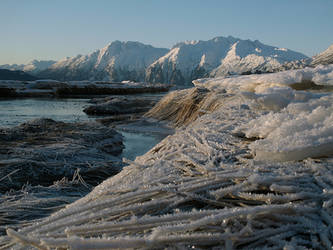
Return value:
M 42 70 L 47 69 L 56 63 L 53 60 L 32 60 L 28 64 L 4 64 L 0 65 L 0 69 L 21 70 L 31 75 L 36 75 Z

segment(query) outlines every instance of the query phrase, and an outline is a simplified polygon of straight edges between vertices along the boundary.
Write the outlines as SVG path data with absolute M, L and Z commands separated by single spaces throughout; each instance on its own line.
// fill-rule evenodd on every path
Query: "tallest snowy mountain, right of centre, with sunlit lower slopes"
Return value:
M 285 62 L 307 56 L 259 41 L 216 37 L 176 44 L 146 71 L 148 82 L 190 83 L 200 77 L 273 72 Z

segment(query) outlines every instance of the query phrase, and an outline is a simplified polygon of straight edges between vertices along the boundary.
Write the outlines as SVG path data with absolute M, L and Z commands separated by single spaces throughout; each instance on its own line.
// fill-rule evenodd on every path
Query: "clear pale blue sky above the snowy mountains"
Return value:
M 0 64 L 229 35 L 313 56 L 333 43 L 332 13 L 333 0 L 0 0 Z

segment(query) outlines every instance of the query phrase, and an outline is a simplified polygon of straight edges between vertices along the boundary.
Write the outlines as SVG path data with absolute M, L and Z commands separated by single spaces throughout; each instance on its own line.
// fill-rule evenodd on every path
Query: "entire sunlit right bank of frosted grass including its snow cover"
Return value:
M 2 248 L 331 249 L 333 66 L 194 84 L 147 114 L 173 135 Z

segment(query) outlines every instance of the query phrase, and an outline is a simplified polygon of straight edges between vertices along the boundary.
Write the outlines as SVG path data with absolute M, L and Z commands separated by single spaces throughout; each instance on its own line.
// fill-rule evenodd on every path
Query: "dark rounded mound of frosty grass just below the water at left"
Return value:
M 0 129 L 0 192 L 52 185 L 77 169 L 92 185 L 121 169 L 122 136 L 98 123 L 37 119 Z

